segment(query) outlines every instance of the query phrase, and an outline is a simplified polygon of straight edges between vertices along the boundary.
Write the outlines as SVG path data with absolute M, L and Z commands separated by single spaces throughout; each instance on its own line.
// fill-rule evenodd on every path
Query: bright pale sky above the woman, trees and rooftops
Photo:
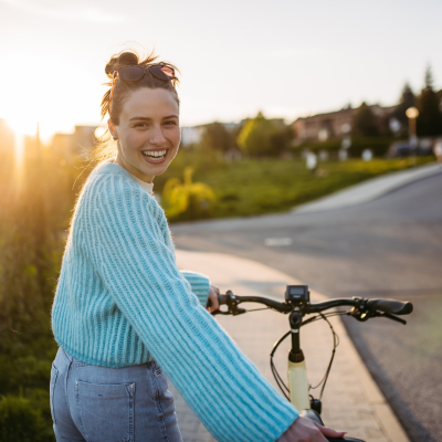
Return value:
M 46 139 L 99 123 L 128 42 L 180 69 L 183 126 L 391 105 L 428 64 L 442 87 L 441 17 L 440 0 L 0 0 L 0 118 Z

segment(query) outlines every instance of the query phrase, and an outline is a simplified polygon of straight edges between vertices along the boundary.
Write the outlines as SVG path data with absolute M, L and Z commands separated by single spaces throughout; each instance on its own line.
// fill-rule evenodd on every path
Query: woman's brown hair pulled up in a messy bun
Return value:
M 106 64 L 105 72 L 106 75 L 112 78 L 114 71 L 118 67 L 123 66 L 146 66 L 152 64 L 154 61 L 158 59 L 155 55 L 154 51 L 145 59 L 139 60 L 139 55 L 134 50 L 125 50 L 118 54 L 115 54 L 110 57 L 108 63 Z M 161 62 L 165 63 L 165 62 Z M 170 63 L 167 63 L 169 66 L 172 66 L 177 72 L 178 69 Z M 176 80 L 178 82 L 178 80 Z M 109 83 L 105 83 L 107 86 L 112 87 L 112 81 Z M 149 71 L 146 71 L 146 74 L 138 82 L 124 82 L 117 78 L 114 86 L 114 96 L 112 97 L 112 108 L 109 109 L 109 101 L 110 101 L 110 88 L 104 94 L 102 99 L 102 118 L 109 115 L 109 118 L 114 125 L 119 124 L 119 115 L 123 109 L 123 105 L 125 103 L 125 98 L 127 98 L 128 93 L 140 90 L 143 87 L 148 87 L 151 90 L 155 88 L 164 88 L 169 90 L 176 97 L 178 106 L 179 98 L 177 94 L 177 90 L 175 88 L 173 82 L 162 82 L 161 80 L 156 78 L 150 74 Z

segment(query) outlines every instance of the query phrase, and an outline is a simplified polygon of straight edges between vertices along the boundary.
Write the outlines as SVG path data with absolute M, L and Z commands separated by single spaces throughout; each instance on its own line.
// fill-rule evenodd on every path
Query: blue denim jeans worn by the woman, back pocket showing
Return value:
M 51 370 L 57 442 L 181 442 L 173 397 L 155 361 L 93 366 L 59 348 Z

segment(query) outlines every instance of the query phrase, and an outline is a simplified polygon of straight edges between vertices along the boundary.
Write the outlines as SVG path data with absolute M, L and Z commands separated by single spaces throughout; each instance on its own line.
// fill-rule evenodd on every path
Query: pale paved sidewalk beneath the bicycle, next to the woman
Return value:
M 212 284 L 219 285 L 221 291 L 230 288 L 238 295 L 261 295 L 282 299 L 285 285 L 301 284 L 263 264 L 225 254 L 178 250 L 177 260 L 180 269 L 206 273 L 210 275 Z M 324 298 L 324 295 L 312 293 L 314 302 Z M 217 316 L 217 320 L 275 386 L 270 370 L 269 354 L 273 344 L 287 332 L 288 317 L 276 312 L 263 311 L 236 317 Z M 386 399 L 361 362 L 340 319 L 332 318 L 330 322 L 339 335 L 340 344 L 323 397 L 325 424 L 337 430 L 347 430 L 348 435 L 366 442 L 408 442 Z M 318 322 L 306 326 L 301 338 L 309 382 L 314 386 L 319 382 L 328 365 L 332 334 L 326 323 Z M 276 354 L 276 366 L 284 377 L 288 343 L 281 347 L 283 348 Z M 176 398 L 178 421 L 185 442 L 213 442 L 214 439 L 173 386 L 170 386 L 170 390 Z M 318 397 L 317 390 L 314 391 L 314 396 Z

